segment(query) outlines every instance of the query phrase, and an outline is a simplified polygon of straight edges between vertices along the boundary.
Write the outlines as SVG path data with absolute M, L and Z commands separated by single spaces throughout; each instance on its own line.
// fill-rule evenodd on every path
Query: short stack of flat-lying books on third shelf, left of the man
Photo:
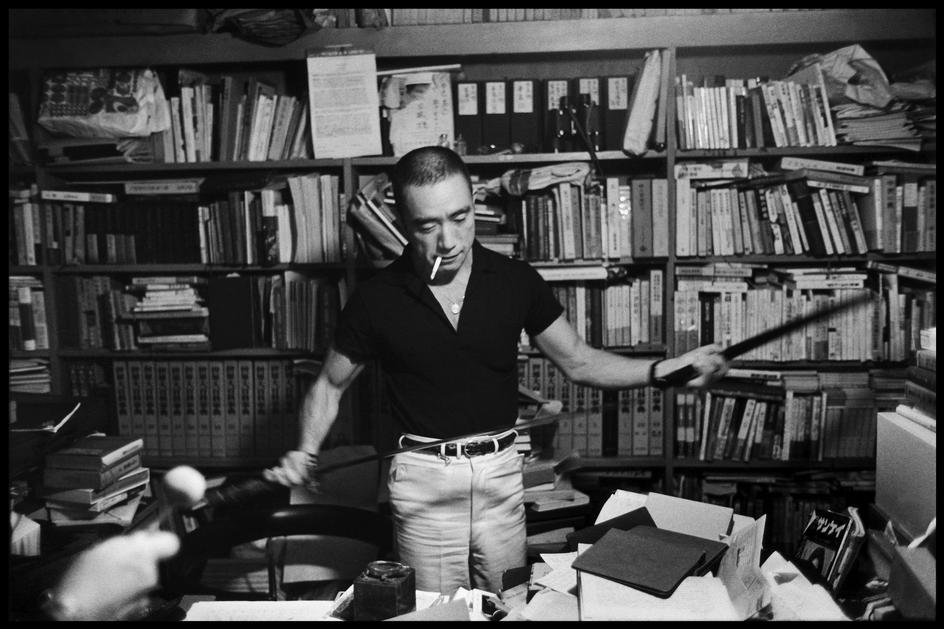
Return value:
M 135 277 L 128 286 L 144 291 L 132 308 L 137 326 L 137 342 L 149 347 L 202 348 L 209 338 L 209 310 L 197 286 L 202 278 Z

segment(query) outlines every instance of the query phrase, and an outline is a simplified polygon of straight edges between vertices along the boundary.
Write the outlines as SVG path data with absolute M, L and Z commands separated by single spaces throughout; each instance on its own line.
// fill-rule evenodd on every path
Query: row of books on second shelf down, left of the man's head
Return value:
M 339 262 L 346 202 L 338 185 L 337 175 L 309 173 L 206 204 L 43 190 L 49 203 L 18 204 L 18 222 L 31 218 L 44 233 L 14 232 L 17 263 L 36 264 L 43 247 L 50 264 Z

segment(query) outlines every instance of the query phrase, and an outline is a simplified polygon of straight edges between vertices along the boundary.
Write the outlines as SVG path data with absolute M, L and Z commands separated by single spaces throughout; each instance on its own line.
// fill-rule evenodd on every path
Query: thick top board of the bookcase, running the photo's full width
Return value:
M 839 45 L 934 40 L 934 9 L 827 9 L 558 20 L 393 26 L 384 29 L 322 29 L 279 47 L 252 44 L 228 33 L 136 37 L 62 37 L 12 40 L 12 70 L 72 66 L 239 64 L 297 61 L 311 49 L 350 45 L 378 59 L 559 56 L 600 51 L 677 47 Z M 710 26 L 708 24 L 710 23 Z M 146 45 L 153 42 L 154 45 Z M 820 46 L 822 47 L 822 46 Z M 483 52 L 487 51 L 487 52 Z

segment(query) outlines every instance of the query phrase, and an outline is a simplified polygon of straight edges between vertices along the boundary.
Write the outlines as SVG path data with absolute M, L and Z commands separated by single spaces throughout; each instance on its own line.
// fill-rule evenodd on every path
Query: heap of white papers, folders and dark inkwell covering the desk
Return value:
M 760 563 L 765 518 L 617 490 L 565 552 L 507 571 L 497 593 L 417 591 L 412 568 L 376 561 L 333 601 L 197 601 L 187 620 L 849 619 L 796 563 Z

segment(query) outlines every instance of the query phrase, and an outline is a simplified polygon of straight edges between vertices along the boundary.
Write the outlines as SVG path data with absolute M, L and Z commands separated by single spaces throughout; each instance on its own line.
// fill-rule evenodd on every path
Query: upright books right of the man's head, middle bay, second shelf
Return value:
M 669 253 L 667 180 L 607 177 L 560 183 L 521 200 L 520 235 L 532 262 L 663 257 Z

